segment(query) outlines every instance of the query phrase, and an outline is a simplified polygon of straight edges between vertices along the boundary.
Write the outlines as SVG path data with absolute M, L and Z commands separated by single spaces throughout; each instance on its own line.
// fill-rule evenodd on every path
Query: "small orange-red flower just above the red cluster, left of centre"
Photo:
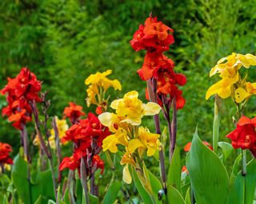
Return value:
M 77 104 L 74 104 L 72 102 L 69 103 L 70 106 L 69 107 L 66 107 L 64 108 L 64 112 L 63 112 L 63 115 L 64 115 L 64 118 L 69 118 L 70 119 L 70 122 L 72 124 L 75 124 L 75 122 L 81 117 L 81 116 L 84 116 L 85 113 L 82 112 L 82 106 L 80 105 L 77 105 Z

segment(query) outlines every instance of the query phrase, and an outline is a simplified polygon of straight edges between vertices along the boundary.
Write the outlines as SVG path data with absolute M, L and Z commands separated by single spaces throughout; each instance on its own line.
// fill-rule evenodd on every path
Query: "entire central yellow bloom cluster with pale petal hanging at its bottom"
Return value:
M 98 119 L 103 125 L 110 128 L 113 135 L 103 140 L 103 151 L 109 150 L 112 153 L 118 151 L 117 145 L 124 146 L 124 155 L 121 164 L 126 164 L 123 169 L 123 180 L 131 182 L 128 164 L 142 169 L 142 156 L 154 155 L 161 143 L 158 140 L 160 135 L 151 133 L 148 128 L 139 127 L 143 116 L 153 116 L 160 112 L 161 107 L 153 102 L 143 104 L 138 99 L 138 92 L 127 92 L 122 99 L 114 100 L 110 108 L 115 113 L 104 112 Z

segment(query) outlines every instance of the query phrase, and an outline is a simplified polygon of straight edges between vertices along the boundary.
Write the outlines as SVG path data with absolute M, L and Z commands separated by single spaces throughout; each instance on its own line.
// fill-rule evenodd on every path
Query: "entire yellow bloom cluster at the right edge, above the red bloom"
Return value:
M 210 70 L 210 77 L 219 73 L 222 80 L 213 84 L 206 92 L 206 100 L 214 94 L 218 94 L 223 99 L 232 97 L 232 99 L 240 104 L 246 103 L 250 96 L 256 95 L 256 83 L 246 81 L 246 77 L 242 79 L 238 70 L 242 67 L 249 69 L 250 65 L 256 65 L 256 56 L 247 53 L 246 55 L 232 53 L 228 57 L 223 57 L 217 62 L 217 65 Z

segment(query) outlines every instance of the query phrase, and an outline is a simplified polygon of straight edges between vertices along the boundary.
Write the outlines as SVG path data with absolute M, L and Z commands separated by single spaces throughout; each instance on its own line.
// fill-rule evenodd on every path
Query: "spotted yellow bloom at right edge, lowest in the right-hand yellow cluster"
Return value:
M 240 104 L 246 98 L 250 98 L 250 96 L 256 95 L 256 83 L 246 82 L 246 87 L 239 87 L 235 90 L 234 97 L 235 101 Z

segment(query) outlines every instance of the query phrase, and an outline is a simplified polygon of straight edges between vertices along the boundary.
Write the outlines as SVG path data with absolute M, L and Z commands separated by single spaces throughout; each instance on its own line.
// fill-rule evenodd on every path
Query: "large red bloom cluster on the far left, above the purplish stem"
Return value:
M 0 93 L 6 95 L 8 105 L 2 108 L 2 116 L 8 116 L 14 128 L 22 130 L 23 125 L 31 120 L 30 101 L 40 102 L 38 92 L 41 82 L 29 69 L 22 68 L 14 79 L 8 78 L 5 88 Z

